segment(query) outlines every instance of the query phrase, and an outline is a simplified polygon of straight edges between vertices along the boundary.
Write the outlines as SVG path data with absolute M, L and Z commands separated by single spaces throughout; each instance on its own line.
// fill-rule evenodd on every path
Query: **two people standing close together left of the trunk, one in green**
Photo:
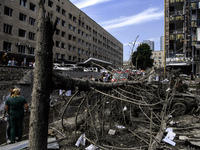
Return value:
M 6 97 L 5 112 L 7 117 L 7 143 L 15 143 L 22 140 L 23 118 L 28 113 L 26 99 L 20 95 L 20 89 L 10 87 L 10 94 Z

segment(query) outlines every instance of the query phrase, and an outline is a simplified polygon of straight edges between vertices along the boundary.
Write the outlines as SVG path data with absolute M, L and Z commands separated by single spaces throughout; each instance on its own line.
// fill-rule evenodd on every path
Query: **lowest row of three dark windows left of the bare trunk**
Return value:
M 25 54 L 26 49 L 28 49 L 28 54 L 34 55 L 35 54 L 35 48 L 31 47 L 30 45 L 24 46 L 24 45 L 17 45 L 18 46 L 18 52 Z M 3 50 L 5 51 L 11 51 L 12 50 L 12 43 L 10 42 L 3 42 Z

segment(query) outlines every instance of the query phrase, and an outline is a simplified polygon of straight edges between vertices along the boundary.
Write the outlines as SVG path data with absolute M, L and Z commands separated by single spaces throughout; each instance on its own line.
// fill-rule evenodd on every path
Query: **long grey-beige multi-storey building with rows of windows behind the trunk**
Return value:
M 123 44 L 69 0 L 44 0 L 45 16 L 58 20 L 53 36 L 54 62 L 78 63 L 89 58 L 123 66 Z M 39 14 L 36 0 L 0 1 L 0 57 L 18 63 L 34 60 Z

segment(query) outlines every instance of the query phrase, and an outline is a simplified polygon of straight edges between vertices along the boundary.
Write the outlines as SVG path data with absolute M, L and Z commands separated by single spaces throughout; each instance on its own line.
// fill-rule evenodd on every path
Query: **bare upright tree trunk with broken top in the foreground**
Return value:
M 39 18 L 35 51 L 35 69 L 29 124 L 29 149 L 47 149 L 49 97 L 52 85 L 52 47 L 54 27 L 44 17 L 43 0 L 39 2 Z

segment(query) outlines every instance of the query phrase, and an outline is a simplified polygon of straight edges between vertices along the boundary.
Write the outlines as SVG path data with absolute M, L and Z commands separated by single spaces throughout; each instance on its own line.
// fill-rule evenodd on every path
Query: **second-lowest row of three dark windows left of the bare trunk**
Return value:
M 12 26 L 10 26 L 8 24 L 4 24 L 4 33 L 12 34 Z M 26 31 L 19 29 L 18 36 L 26 37 Z M 35 33 L 28 32 L 28 39 L 29 40 L 35 40 Z

